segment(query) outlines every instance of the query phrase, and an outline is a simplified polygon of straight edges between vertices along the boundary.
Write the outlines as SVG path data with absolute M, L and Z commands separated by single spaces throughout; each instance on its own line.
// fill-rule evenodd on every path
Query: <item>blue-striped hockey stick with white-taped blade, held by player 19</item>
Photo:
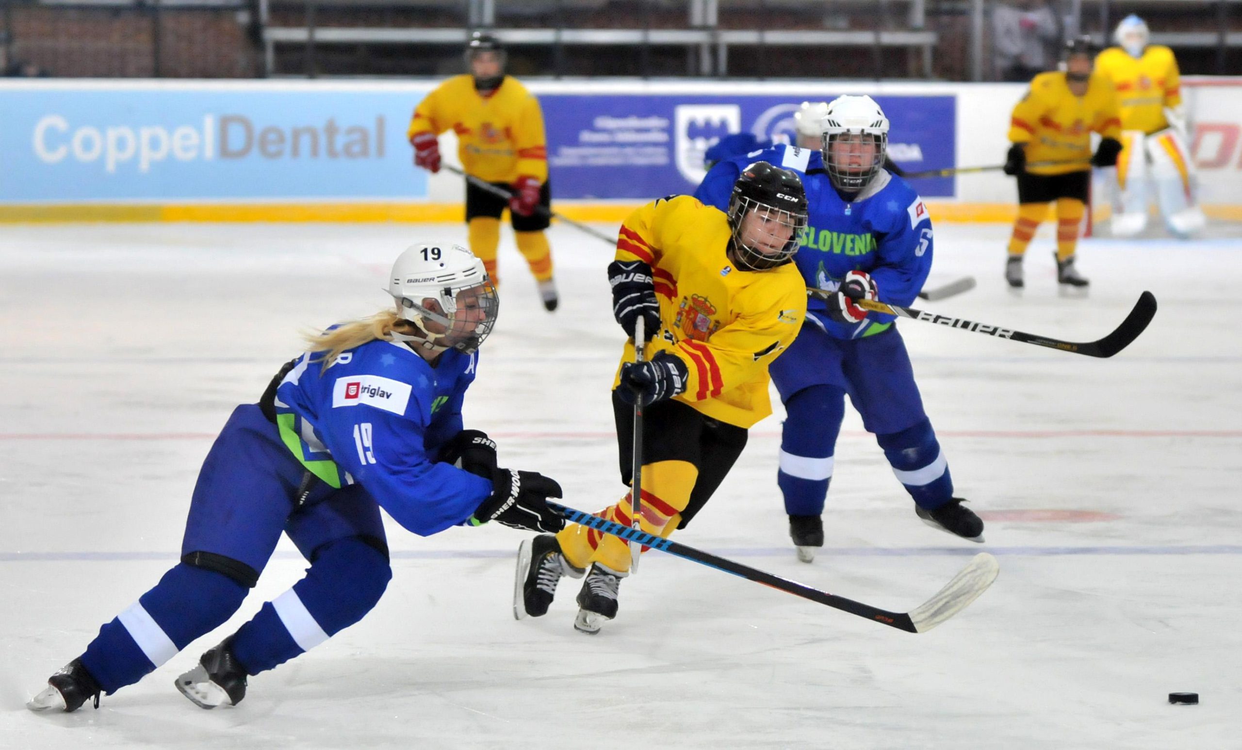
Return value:
M 945 584 L 944 587 L 935 594 L 935 596 L 914 607 L 909 612 L 889 612 L 888 610 L 881 610 L 879 607 L 853 601 L 852 599 L 827 594 L 826 591 L 820 591 L 818 589 L 812 589 L 804 584 L 790 581 L 770 572 L 750 567 L 749 565 L 734 562 L 728 558 L 720 558 L 713 555 L 712 553 L 704 553 L 703 550 L 678 544 L 669 539 L 647 534 L 646 531 L 636 531 L 628 526 L 623 526 L 612 520 L 602 519 L 597 515 L 590 515 L 587 513 L 582 513 L 581 510 L 565 508 L 564 505 L 558 505 L 553 502 L 549 502 L 548 507 L 556 510 L 566 519 L 595 529 L 596 531 L 611 534 L 612 536 L 620 536 L 627 541 L 637 541 L 640 545 L 650 546 L 662 553 L 668 553 L 669 555 L 682 558 L 683 560 L 691 560 L 693 562 L 699 562 L 700 565 L 707 565 L 708 567 L 715 567 L 717 570 L 732 572 L 733 575 L 744 577 L 748 581 L 755 581 L 756 584 L 771 586 L 773 589 L 786 591 L 795 596 L 801 596 L 802 599 L 827 605 L 835 610 L 857 615 L 858 617 L 866 617 L 867 620 L 873 620 L 908 633 L 925 633 L 958 612 L 965 610 L 970 602 L 979 599 L 979 595 L 992 585 L 992 581 L 996 580 L 996 576 L 1001 571 L 1001 566 L 996 562 L 996 558 L 987 553 L 979 553 L 970 560 L 969 564 L 966 564 L 965 567 L 958 571 L 958 575 L 953 576 L 953 579 Z

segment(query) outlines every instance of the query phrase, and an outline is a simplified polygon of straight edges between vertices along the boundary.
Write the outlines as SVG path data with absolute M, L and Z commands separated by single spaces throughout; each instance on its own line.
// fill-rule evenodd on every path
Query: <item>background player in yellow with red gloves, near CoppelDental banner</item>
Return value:
M 501 215 L 509 207 L 518 251 L 525 257 L 549 312 L 556 309 L 551 247 L 545 230 L 550 219 L 548 143 L 539 101 L 518 79 L 504 75 L 499 40 L 476 32 L 466 47 L 469 73 L 453 76 L 427 94 L 410 120 L 410 144 L 417 166 L 440 171 L 440 142 L 450 128 L 457 134 L 457 155 L 466 174 L 513 194 L 503 199 L 466 184 L 466 226 L 469 248 L 499 283 L 496 248 Z

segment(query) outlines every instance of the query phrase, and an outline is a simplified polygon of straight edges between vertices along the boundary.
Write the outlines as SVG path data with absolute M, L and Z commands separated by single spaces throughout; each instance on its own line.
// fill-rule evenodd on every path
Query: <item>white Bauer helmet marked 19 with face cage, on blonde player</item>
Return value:
M 474 351 L 492 333 L 501 307 L 483 261 L 455 243 L 407 247 L 392 263 L 388 292 L 401 317 L 425 334 L 392 338 L 433 350 Z M 428 299 L 432 304 L 425 304 Z

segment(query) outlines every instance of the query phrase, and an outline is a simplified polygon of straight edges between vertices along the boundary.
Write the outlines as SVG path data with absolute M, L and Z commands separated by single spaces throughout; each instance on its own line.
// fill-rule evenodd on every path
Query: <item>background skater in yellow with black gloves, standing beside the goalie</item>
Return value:
M 1017 178 L 1017 221 L 1009 243 L 1005 279 L 1022 288 L 1022 256 L 1048 204 L 1057 206 L 1057 283 L 1086 287 L 1074 267 L 1078 226 L 1090 190 L 1090 168 L 1113 166 L 1122 150 L 1117 93 L 1108 78 L 1092 71 L 1090 37 L 1066 45 L 1063 71 L 1040 73 L 1013 108 L 1012 145 L 1005 174 Z M 1102 135 L 1095 154 L 1090 134 Z

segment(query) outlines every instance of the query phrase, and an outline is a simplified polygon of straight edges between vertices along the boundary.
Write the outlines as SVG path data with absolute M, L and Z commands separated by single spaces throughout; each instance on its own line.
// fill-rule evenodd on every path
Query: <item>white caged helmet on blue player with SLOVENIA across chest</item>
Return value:
M 841 144 L 833 148 L 833 143 Z M 884 165 L 888 118 L 868 96 L 843 96 L 828 102 L 823 115 L 823 166 L 832 185 L 858 192 Z

